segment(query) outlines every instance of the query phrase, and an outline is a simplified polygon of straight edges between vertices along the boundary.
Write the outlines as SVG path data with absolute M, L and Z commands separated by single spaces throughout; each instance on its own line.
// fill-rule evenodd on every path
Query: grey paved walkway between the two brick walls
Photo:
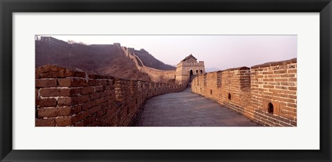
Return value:
M 190 86 L 147 100 L 140 127 L 257 127 L 259 124 L 216 102 L 194 94 Z

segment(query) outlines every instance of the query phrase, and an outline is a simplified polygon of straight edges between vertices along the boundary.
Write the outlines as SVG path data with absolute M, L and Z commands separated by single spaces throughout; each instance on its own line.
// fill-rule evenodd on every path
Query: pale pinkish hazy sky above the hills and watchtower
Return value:
M 118 42 L 144 48 L 165 64 L 176 65 L 187 55 L 204 61 L 205 69 L 229 69 L 297 57 L 297 35 L 50 35 L 86 44 Z

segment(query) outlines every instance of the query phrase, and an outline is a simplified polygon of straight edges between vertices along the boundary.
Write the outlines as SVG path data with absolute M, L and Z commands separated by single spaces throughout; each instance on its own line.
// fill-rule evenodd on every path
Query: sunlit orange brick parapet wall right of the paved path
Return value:
M 192 91 L 262 125 L 297 125 L 296 58 L 199 75 Z

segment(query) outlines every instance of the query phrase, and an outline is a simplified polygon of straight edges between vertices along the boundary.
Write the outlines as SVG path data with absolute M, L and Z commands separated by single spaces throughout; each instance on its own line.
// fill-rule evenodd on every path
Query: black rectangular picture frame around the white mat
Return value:
M 331 0 L 1 0 L 0 10 L 1 161 L 331 161 Z M 13 12 L 320 12 L 320 150 L 12 150 Z

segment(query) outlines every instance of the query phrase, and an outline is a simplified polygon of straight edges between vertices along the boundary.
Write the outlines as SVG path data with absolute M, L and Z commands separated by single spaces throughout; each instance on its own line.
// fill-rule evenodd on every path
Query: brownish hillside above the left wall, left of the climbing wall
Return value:
M 133 60 L 125 57 L 120 46 L 59 44 L 50 41 L 35 42 L 35 66 L 57 64 L 87 71 L 96 71 L 118 78 L 149 80 L 146 73 L 138 71 Z

